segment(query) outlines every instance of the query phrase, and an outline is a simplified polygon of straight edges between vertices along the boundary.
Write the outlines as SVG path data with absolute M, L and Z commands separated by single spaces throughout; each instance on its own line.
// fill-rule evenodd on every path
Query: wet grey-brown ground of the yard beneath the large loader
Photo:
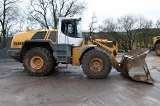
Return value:
M 151 52 L 146 62 L 153 85 L 124 78 L 114 68 L 99 80 L 72 66 L 32 77 L 18 62 L 0 62 L 0 106 L 160 106 L 160 57 Z

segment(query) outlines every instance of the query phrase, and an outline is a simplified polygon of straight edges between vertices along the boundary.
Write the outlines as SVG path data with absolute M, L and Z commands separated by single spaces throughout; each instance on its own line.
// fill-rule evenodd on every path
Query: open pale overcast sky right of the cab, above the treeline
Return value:
M 83 29 L 95 13 L 98 22 L 106 18 L 117 19 L 126 14 L 140 15 L 153 21 L 160 18 L 160 0 L 85 0 L 87 9 L 84 12 Z

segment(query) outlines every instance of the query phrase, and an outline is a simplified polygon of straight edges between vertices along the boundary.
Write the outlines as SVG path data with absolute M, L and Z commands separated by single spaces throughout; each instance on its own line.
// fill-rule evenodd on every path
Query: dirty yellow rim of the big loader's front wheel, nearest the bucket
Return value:
M 89 62 L 91 71 L 100 72 L 103 68 L 103 62 L 99 58 L 94 58 Z

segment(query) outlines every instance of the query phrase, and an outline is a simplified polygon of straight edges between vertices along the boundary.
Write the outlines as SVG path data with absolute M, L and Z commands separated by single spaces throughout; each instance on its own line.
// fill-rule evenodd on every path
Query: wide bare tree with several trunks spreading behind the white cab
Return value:
M 58 17 L 81 14 L 85 3 L 79 0 L 30 0 L 29 19 L 46 29 L 57 28 Z

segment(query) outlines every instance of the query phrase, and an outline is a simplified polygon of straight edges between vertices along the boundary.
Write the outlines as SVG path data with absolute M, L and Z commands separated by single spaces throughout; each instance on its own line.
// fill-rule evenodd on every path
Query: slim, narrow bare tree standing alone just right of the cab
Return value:
M 95 16 L 95 13 L 93 13 L 91 17 L 91 23 L 89 24 L 89 36 L 92 35 L 92 33 L 96 30 L 96 27 L 94 26 L 97 23 L 97 17 Z

